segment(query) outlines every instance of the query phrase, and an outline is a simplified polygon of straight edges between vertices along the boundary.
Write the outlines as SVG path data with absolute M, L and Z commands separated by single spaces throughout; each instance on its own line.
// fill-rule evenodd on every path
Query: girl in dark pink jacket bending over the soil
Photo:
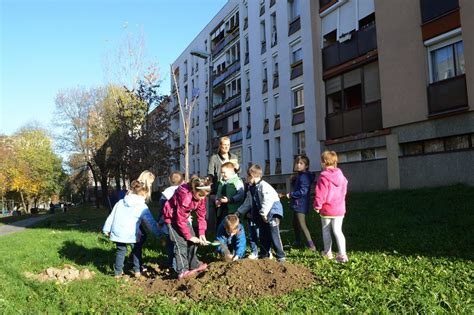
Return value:
M 211 191 L 209 184 L 207 178 L 192 178 L 189 183 L 178 187 L 163 208 L 164 222 L 168 225 L 170 240 L 173 242 L 178 279 L 207 268 L 207 264 L 198 260 L 196 251 L 197 244 L 207 244 L 206 196 Z M 199 237 L 195 236 L 189 222 L 192 211 L 197 214 Z

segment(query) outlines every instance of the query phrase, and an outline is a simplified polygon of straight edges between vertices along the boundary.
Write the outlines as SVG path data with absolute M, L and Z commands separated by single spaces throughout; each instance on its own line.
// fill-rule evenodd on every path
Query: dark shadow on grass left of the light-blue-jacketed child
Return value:
M 61 257 L 74 261 L 77 265 L 94 265 L 102 273 L 110 271 L 111 259 L 115 260 L 114 250 L 94 247 L 87 248 L 74 241 L 66 241 L 58 251 Z

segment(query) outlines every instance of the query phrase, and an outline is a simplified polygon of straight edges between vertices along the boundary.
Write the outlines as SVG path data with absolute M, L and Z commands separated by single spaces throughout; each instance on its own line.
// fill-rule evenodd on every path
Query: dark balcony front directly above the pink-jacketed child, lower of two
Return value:
M 382 129 L 382 106 L 376 101 L 326 117 L 326 139 Z

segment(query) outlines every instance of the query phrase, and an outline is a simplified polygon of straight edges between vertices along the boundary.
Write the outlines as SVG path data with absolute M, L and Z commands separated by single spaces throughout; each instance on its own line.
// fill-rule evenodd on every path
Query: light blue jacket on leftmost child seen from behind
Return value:
M 140 223 L 159 235 L 157 223 L 145 203 L 145 197 L 129 193 L 115 205 L 102 230 L 110 233 L 110 240 L 119 243 L 136 243 Z

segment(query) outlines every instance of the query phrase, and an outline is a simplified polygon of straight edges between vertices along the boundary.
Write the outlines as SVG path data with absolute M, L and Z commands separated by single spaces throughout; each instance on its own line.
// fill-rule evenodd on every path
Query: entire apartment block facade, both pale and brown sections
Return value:
M 325 149 L 351 190 L 474 184 L 473 15 L 469 0 L 229 0 L 173 63 L 196 104 L 190 173 L 229 136 L 243 172 L 282 190 L 295 155 L 319 171 Z

